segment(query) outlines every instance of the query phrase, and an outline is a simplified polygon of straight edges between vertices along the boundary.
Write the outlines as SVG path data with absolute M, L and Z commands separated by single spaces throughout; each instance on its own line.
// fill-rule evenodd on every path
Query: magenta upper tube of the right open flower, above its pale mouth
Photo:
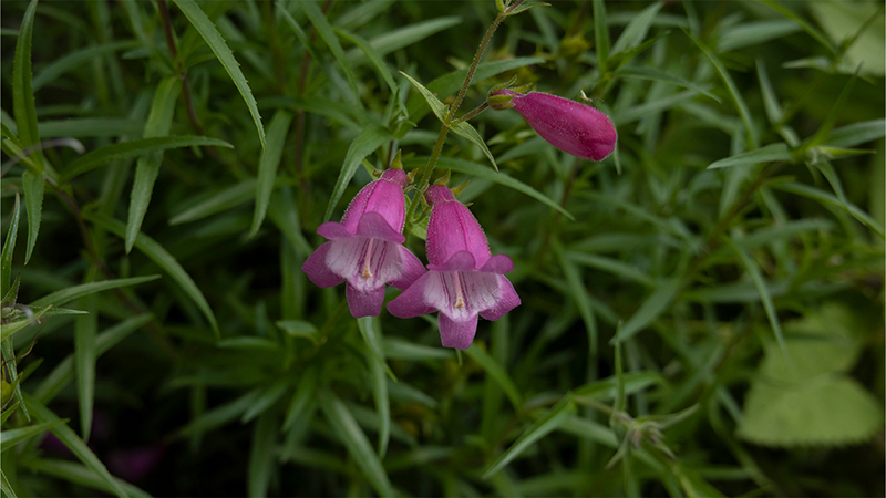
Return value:
M 433 206 L 427 222 L 427 262 L 441 264 L 455 252 L 468 251 L 483 266 L 490 259 L 490 245 L 476 218 L 443 185 L 432 185 L 424 197 Z

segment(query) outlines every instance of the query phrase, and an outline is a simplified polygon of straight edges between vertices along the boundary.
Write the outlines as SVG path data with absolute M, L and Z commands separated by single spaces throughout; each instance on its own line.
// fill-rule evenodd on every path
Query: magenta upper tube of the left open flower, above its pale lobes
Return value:
M 406 208 L 403 199 L 403 186 L 406 174 L 402 169 L 387 169 L 381 178 L 370 183 L 351 200 L 341 224 L 351 234 L 357 234 L 360 219 L 365 212 L 378 212 L 395 231 L 403 231 Z M 400 201 L 395 201 L 396 198 Z

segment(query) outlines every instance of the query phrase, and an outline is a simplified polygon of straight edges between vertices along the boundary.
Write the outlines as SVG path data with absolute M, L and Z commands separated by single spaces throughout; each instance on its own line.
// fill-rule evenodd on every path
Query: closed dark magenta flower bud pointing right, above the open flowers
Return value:
M 508 102 L 501 95 L 513 98 Z M 493 108 L 513 106 L 542 138 L 576 157 L 602 160 L 616 148 L 618 135 L 611 120 L 589 105 L 546 93 L 522 94 L 506 89 L 493 92 L 490 104 Z

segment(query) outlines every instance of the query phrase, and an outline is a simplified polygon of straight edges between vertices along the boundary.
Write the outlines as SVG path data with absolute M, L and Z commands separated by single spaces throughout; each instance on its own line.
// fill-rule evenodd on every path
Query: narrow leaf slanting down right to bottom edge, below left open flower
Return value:
M 341 439 L 348 453 L 351 454 L 357 466 L 365 475 L 367 480 L 380 496 L 392 496 L 393 487 L 388 479 L 388 474 L 381 465 L 375 452 L 369 444 L 367 435 L 357 425 L 353 415 L 348 406 L 336 397 L 332 393 L 320 395 L 320 407 L 326 415 L 327 422 L 332 426 L 332 432 Z

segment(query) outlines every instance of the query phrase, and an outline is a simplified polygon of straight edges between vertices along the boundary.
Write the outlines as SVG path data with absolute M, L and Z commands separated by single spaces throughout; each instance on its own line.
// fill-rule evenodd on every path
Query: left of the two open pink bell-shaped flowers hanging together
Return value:
M 351 200 L 341 222 L 327 221 L 317 232 L 329 239 L 301 269 L 319 287 L 347 281 L 348 308 L 356 318 L 378 317 L 384 286 L 406 289 L 424 273 L 419 258 L 403 247 L 406 174 L 388 169 Z

